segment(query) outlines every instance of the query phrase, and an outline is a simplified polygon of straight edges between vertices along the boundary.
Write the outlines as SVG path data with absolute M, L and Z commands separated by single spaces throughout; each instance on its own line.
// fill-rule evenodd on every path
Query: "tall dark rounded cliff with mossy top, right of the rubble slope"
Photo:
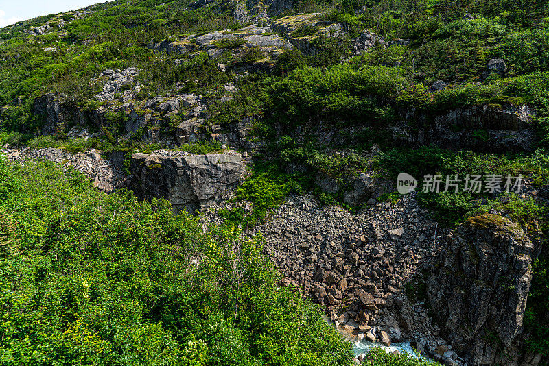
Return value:
M 472 217 L 445 238 L 428 297 L 443 333 L 469 365 L 523 365 L 521 334 L 533 244 L 500 215 Z

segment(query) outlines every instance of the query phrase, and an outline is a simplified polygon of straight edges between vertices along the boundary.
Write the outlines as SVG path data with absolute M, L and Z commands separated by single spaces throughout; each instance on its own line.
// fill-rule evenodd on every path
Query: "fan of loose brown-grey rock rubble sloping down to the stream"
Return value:
M 202 219 L 220 222 L 215 210 Z M 443 232 L 413 196 L 356 215 L 312 195 L 294 196 L 248 234 L 264 236 L 282 284 L 325 305 L 347 337 L 385 345 L 413 340 L 447 365 L 466 364 L 440 337 L 426 299 L 412 302 L 406 294 L 407 284 L 422 286 L 444 250 Z

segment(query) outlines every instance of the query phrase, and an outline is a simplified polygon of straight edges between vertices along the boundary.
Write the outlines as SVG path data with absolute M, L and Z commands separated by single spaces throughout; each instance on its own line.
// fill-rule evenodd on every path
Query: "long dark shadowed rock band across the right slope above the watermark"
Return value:
M 394 101 L 376 103 L 394 106 Z M 436 145 L 445 149 L 471 149 L 505 153 L 533 151 L 537 138 L 528 106 L 467 106 L 441 112 L 397 110 L 397 118 L 384 126 L 388 138 L 400 146 Z M 371 120 L 346 121 L 344 132 L 331 121 L 314 120 L 299 129 L 278 125 L 280 136 L 290 135 L 296 141 L 312 138 L 318 144 L 345 147 L 357 143 L 359 136 L 373 136 L 379 130 Z

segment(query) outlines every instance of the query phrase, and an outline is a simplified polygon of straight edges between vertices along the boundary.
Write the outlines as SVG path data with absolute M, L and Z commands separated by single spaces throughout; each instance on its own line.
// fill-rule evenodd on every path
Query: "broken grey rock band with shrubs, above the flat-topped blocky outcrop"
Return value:
M 135 88 L 121 94 L 120 99 L 110 102 L 124 83 L 131 81 L 139 71 L 137 69 L 106 70 L 100 79 L 108 77 L 104 91 L 98 95 L 107 102 L 97 109 L 82 108 L 67 100 L 65 95 L 49 93 L 34 101 L 33 112 L 43 120 L 40 134 L 56 134 L 68 138 L 93 138 L 115 127 L 124 128 L 121 138 L 133 138 L 139 134 L 143 141 L 162 142 L 166 147 L 180 143 L 197 141 L 220 141 L 231 147 L 256 150 L 261 143 L 250 141 L 248 132 L 253 119 L 248 117 L 228 125 L 210 125 L 208 105 L 212 99 L 202 95 L 178 93 L 171 96 L 157 96 L 139 101 L 135 99 Z M 230 100 L 237 89 L 226 84 L 224 97 L 220 102 Z M 125 101 L 125 102 L 124 102 Z M 1 113 L 8 107 L 0 108 Z M 180 121 L 180 122 L 178 122 Z

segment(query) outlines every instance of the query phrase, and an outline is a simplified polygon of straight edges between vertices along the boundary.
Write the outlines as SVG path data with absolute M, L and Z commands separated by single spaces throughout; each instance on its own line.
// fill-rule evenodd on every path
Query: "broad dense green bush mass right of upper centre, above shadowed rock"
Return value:
M 270 86 L 273 114 L 277 121 L 305 123 L 314 117 L 373 119 L 384 121 L 386 108 L 371 95 L 399 95 L 406 85 L 400 69 L 352 64 L 331 66 L 327 71 L 311 67 L 294 70 Z

